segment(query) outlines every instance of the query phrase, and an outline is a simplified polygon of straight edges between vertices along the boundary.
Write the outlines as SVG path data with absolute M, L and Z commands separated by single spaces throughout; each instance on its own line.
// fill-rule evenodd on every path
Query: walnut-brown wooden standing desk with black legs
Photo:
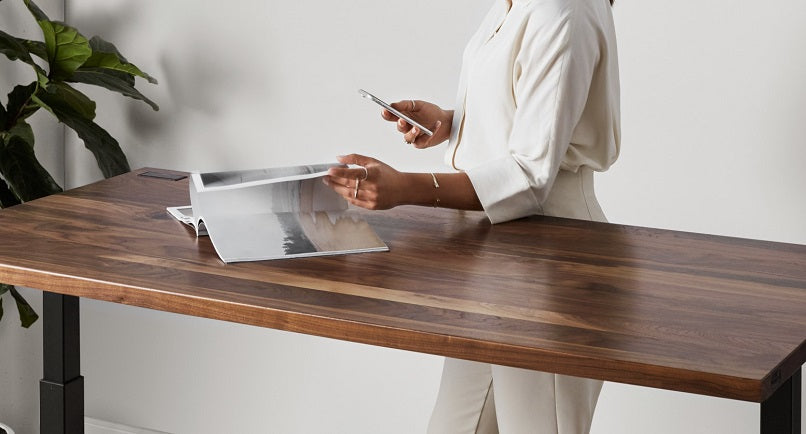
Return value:
M 0 281 L 46 291 L 43 433 L 82 429 L 78 297 L 759 402 L 762 433 L 800 433 L 806 246 L 403 207 L 367 213 L 388 253 L 224 265 L 165 211 L 187 180 L 143 171 L 0 212 Z

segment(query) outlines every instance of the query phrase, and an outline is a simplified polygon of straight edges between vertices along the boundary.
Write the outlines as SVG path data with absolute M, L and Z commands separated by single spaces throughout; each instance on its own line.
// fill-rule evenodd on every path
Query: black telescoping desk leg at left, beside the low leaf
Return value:
M 78 297 L 44 292 L 42 311 L 44 378 L 39 382 L 39 428 L 42 434 L 83 434 Z

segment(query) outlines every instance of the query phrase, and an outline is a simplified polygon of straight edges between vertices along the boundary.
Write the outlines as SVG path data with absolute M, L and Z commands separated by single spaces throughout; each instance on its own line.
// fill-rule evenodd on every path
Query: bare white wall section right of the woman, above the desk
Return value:
M 806 244 L 806 2 L 616 0 L 616 222 Z

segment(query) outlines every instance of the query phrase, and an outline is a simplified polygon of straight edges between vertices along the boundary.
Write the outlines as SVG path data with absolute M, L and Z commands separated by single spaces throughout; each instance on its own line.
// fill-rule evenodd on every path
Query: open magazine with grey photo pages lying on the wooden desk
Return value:
M 190 206 L 177 220 L 209 235 L 225 263 L 387 251 L 347 201 L 322 183 L 338 164 L 190 176 Z

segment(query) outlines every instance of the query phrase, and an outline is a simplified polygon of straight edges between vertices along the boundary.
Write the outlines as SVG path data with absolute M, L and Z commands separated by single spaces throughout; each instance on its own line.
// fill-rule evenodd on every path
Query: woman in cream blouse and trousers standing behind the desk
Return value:
M 368 209 L 484 210 L 492 223 L 544 214 L 604 221 L 593 171 L 616 160 L 619 81 L 609 0 L 495 0 L 465 50 L 455 110 L 384 110 L 407 143 L 449 139 L 452 173 L 401 173 L 362 155 L 325 182 Z M 586 433 L 602 383 L 447 359 L 431 433 Z

